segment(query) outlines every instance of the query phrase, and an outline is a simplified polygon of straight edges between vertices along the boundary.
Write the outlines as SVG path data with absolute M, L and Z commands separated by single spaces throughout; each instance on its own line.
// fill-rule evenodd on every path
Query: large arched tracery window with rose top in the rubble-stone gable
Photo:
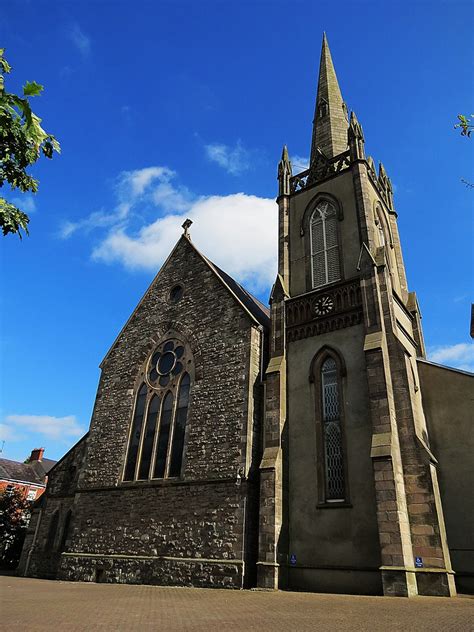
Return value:
M 181 475 L 192 370 L 191 352 L 178 339 L 162 342 L 149 358 L 136 396 L 124 481 Z

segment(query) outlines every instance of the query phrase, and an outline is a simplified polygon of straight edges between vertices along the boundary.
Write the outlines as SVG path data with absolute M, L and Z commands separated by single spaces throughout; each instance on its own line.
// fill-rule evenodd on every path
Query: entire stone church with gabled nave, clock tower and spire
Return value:
M 474 375 L 426 360 L 393 189 L 323 38 L 309 168 L 278 165 L 270 309 L 190 222 L 101 364 L 19 573 L 454 596 L 474 584 Z M 276 237 L 276 235 L 275 235 Z

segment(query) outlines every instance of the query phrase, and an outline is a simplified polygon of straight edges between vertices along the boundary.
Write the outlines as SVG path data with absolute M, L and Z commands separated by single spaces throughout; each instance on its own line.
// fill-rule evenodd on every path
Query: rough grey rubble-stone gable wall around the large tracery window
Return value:
M 184 292 L 173 304 L 170 290 L 178 283 Z M 192 353 L 181 476 L 124 482 L 137 389 L 150 354 L 168 337 L 180 337 Z M 183 237 L 101 365 L 59 578 L 252 583 L 262 338 L 262 326 Z M 40 539 L 58 503 L 64 512 L 65 477 L 58 471 L 48 485 Z M 51 576 L 57 562 L 44 554 L 31 572 Z

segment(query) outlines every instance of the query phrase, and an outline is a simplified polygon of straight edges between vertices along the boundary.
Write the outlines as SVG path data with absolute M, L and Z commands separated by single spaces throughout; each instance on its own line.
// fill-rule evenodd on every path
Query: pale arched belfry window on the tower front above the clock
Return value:
M 311 216 L 311 272 L 313 287 L 341 278 L 336 207 L 321 200 Z

